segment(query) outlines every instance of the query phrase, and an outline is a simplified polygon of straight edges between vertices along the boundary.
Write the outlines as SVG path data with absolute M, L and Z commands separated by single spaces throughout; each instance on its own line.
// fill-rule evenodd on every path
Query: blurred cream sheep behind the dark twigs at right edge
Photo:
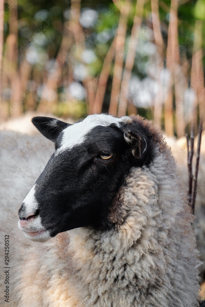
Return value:
M 171 146 L 172 153 L 176 159 L 179 172 L 183 175 L 185 185 L 188 187 L 188 168 L 187 168 L 187 140 L 186 137 L 179 139 L 166 137 L 166 142 Z M 194 142 L 193 172 L 195 171 L 197 137 Z M 205 133 L 202 134 L 199 173 L 197 181 L 197 196 L 195 203 L 196 218 L 193 223 L 195 234 L 197 235 L 197 248 L 202 261 L 199 269 L 202 279 L 205 278 Z

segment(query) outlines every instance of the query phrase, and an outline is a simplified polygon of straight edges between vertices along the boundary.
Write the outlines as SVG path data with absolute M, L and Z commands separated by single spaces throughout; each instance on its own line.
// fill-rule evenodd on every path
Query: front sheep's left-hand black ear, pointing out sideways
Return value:
M 62 122 L 61 120 L 45 116 L 33 117 L 32 123 L 46 138 L 52 142 L 57 140 L 57 137 L 61 131 L 68 126 L 71 126 L 71 124 Z

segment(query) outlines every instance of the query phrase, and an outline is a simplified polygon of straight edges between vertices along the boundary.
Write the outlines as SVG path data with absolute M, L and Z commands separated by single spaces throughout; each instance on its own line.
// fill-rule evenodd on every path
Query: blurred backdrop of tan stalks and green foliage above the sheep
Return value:
M 204 113 L 204 0 L 0 2 L 1 124 L 140 114 L 179 138 Z

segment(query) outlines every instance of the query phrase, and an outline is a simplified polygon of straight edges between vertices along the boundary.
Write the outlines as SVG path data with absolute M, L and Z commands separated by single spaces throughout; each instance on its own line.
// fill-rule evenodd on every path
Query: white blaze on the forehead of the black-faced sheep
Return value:
M 85 141 L 86 135 L 96 126 L 109 126 L 115 124 L 120 127 L 120 123 L 125 121 L 125 118 L 130 119 L 128 116 L 123 118 L 116 118 L 106 114 L 92 114 L 87 116 L 83 121 L 77 122 L 72 126 L 67 127 L 63 131 L 63 137 L 61 140 L 61 147 L 56 153 L 61 152 L 67 148 L 72 148 L 75 145 L 79 145 Z

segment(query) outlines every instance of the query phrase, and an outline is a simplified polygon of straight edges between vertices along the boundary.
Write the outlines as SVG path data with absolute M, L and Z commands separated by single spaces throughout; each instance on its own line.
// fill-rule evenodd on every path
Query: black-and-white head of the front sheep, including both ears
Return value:
M 73 125 L 49 117 L 32 122 L 55 152 L 19 209 L 19 228 L 44 242 L 77 227 L 112 227 L 109 208 L 126 174 L 152 160 L 150 135 L 128 116 L 94 114 Z

